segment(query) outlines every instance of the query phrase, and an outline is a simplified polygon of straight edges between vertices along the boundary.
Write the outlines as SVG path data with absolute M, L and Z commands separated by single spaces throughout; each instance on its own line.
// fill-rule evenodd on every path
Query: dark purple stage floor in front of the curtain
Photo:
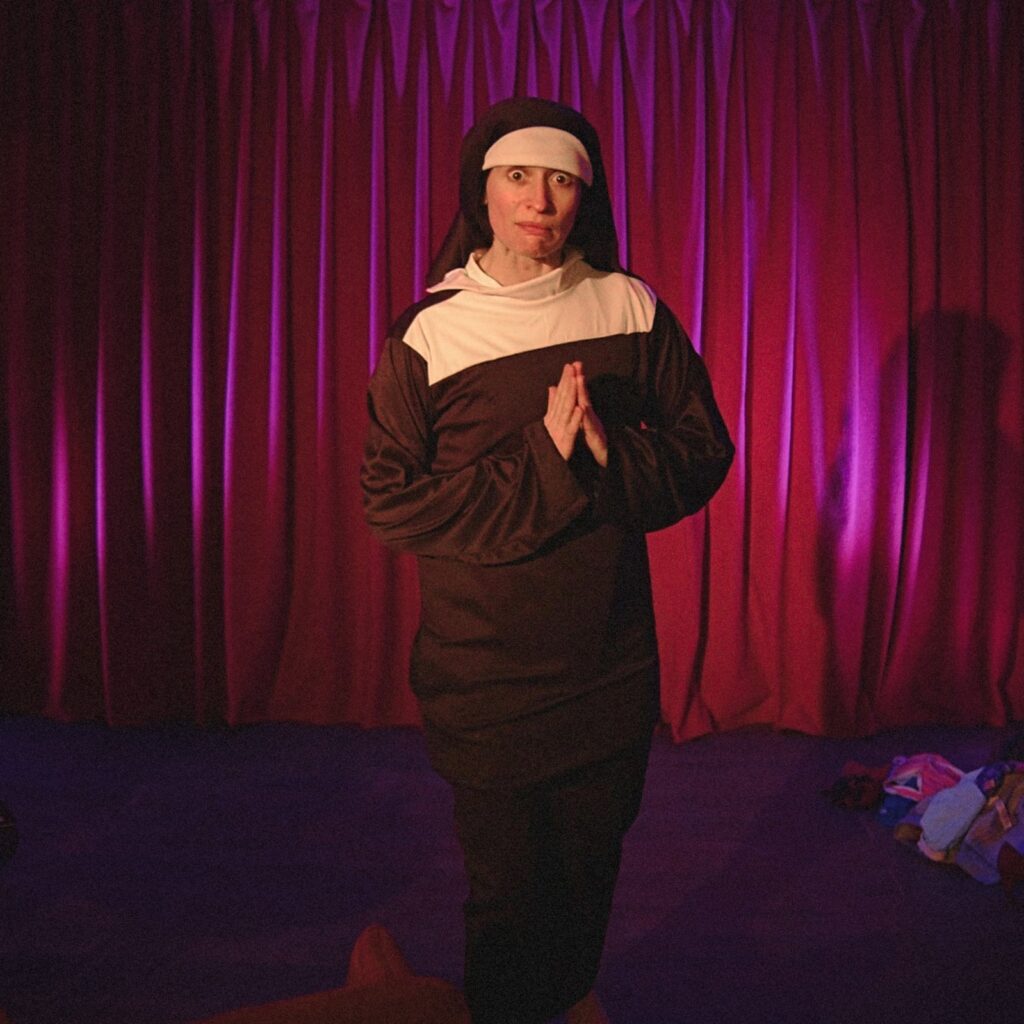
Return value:
M 1022 1024 L 1024 908 L 820 791 L 1005 732 L 657 740 L 599 982 L 615 1024 Z M 460 980 L 451 800 L 418 732 L 0 719 L 0 1008 L 183 1024 L 340 985 L 371 922 Z

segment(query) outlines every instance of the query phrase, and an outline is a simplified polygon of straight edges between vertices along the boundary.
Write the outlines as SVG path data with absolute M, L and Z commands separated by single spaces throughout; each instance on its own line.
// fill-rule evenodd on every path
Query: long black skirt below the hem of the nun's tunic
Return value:
M 524 790 L 456 786 L 474 1024 L 541 1024 L 590 992 L 648 748 Z

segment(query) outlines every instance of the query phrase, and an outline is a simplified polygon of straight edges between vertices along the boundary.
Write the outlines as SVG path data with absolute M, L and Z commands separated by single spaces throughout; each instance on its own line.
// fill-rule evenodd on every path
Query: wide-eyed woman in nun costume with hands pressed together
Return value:
M 644 532 L 733 455 L 703 364 L 616 253 L 589 122 L 498 103 L 370 385 L 367 516 L 418 556 L 412 685 L 455 792 L 475 1024 L 606 1020 L 592 985 L 658 713 Z

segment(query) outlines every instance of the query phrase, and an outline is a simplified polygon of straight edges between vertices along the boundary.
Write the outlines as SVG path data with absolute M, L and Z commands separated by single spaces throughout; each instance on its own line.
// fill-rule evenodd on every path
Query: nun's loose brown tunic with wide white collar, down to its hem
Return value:
M 609 441 L 566 462 L 547 388 L 582 360 Z M 432 763 L 481 787 L 609 757 L 658 713 L 644 532 L 701 508 L 733 455 L 703 362 L 637 279 L 579 254 L 503 287 L 471 259 L 389 332 L 362 485 L 418 556 L 412 658 Z

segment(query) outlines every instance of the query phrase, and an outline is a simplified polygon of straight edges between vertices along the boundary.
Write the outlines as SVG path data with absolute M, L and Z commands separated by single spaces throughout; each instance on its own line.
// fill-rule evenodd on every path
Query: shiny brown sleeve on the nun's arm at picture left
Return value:
M 540 420 L 512 429 L 452 471 L 434 470 L 434 412 L 424 360 L 389 339 L 369 392 L 361 472 L 371 528 L 417 555 L 502 564 L 535 554 L 589 499 Z

